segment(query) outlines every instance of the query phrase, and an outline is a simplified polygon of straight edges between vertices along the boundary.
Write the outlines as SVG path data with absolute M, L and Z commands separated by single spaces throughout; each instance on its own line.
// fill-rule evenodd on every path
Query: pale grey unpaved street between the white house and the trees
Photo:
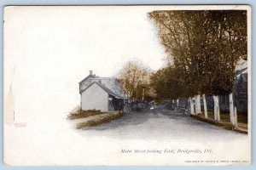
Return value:
M 187 141 L 222 141 L 244 139 L 246 134 L 236 133 L 174 111 L 151 110 L 126 113 L 119 120 L 91 127 L 81 133 L 94 133 L 122 139 L 163 139 Z

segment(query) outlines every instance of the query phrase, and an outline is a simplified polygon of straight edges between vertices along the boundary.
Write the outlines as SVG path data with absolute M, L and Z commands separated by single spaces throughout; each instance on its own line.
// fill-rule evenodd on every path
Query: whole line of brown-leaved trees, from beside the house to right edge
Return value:
M 126 94 L 141 100 L 188 98 L 191 108 L 195 98 L 191 114 L 201 113 L 202 97 L 206 117 L 206 95 L 210 95 L 216 120 L 220 119 L 218 96 L 229 95 L 230 121 L 234 122 L 232 91 L 236 62 L 247 59 L 247 11 L 159 10 L 148 17 L 170 62 L 154 73 L 128 64 L 120 78 Z

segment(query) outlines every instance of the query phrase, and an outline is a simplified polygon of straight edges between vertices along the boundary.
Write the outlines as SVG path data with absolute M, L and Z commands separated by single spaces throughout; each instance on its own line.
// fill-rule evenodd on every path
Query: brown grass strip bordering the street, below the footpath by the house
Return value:
M 77 124 L 77 129 L 81 129 L 81 128 L 84 128 L 84 127 L 96 127 L 97 125 L 100 125 L 102 123 L 106 123 L 106 122 L 111 122 L 115 119 L 119 119 L 121 118 L 122 116 L 124 116 L 123 113 L 113 113 L 113 114 L 106 114 L 106 115 L 102 115 L 96 119 L 93 119 L 93 120 L 90 120 L 90 121 L 87 121 L 87 122 L 80 122 Z

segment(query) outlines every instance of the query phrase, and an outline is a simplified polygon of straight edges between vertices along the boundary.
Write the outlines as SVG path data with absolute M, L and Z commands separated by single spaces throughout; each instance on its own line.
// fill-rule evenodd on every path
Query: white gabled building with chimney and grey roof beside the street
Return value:
M 79 82 L 79 94 L 82 111 L 118 111 L 126 99 L 117 78 L 97 77 L 92 71 Z

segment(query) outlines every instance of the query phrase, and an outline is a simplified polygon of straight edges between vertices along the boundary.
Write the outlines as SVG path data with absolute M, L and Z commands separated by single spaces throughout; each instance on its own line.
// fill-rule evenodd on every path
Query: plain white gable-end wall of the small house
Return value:
M 108 111 L 108 94 L 96 83 L 87 88 L 81 95 L 82 110 Z

